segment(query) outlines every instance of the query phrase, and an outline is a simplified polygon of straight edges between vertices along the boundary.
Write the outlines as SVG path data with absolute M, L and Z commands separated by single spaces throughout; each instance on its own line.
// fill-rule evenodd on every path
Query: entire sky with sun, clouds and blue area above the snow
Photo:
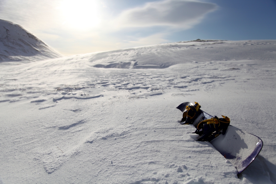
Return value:
M 195 39 L 276 40 L 276 0 L 0 0 L 0 19 L 64 56 Z

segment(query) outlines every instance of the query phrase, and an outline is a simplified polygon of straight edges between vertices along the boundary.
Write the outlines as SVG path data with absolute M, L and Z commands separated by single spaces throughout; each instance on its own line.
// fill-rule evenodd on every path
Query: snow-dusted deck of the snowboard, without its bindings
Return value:
M 186 111 L 186 106 L 194 105 L 191 102 L 184 102 L 180 104 L 177 109 L 182 113 Z M 211 116 L 201 110 L 201 113 L 193 122 L 193 125 L 197 125 L 206 119 L 210 119 Z M 181 122 L 184 124 L 184 122 Z M 220 134 L 216 138 L 210 141 L 217 151 L 219 151 L 226 159 L 228 159 L 234 167 L 238 170 L 238 174 L 243 172 L 250 163 L 256 158 L 261 149 L 263 148 L 263 141 L 251 133 L 245 132 L 239 128 L 229 125 L 224 135 Z

